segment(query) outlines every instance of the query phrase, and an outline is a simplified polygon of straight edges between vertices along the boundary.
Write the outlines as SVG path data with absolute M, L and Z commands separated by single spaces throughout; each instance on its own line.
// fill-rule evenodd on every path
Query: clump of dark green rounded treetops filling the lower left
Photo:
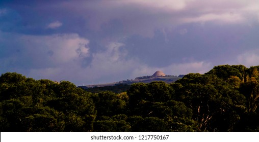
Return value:
M 66 81 L 3 74 L 1 131 L 91 131 L 96 111 L 90 95 Z

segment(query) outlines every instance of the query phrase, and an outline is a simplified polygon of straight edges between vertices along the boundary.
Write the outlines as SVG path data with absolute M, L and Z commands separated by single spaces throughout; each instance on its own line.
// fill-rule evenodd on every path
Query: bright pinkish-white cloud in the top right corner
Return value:
M 182 22 L 207 22 L 235 24 L 251 22 L 258 16 L 257 1 L 205 1 L 197 0 L 188 3 L 188 15 L 182 17 Z M 191 13 L 192 12 L 192 13 Z M 182 23 L 181 22 L 181 23 Z

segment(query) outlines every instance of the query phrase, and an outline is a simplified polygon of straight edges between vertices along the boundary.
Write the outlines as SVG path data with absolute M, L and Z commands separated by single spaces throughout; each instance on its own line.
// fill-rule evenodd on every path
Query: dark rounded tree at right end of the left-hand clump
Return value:
M 91 94 L 69 82 L 61 82 L 54 90 L 57 97 L 46 105 L 65 114 L 65 131 L 91 131 L 96 117 Z

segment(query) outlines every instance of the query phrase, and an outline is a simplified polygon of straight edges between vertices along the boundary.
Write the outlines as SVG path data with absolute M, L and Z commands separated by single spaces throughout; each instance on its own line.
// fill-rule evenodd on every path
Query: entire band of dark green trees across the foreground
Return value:
M 0 101 L 2 132 L 259 131 L 259 66 L 218 65 L 119 93 L 5 73 Z

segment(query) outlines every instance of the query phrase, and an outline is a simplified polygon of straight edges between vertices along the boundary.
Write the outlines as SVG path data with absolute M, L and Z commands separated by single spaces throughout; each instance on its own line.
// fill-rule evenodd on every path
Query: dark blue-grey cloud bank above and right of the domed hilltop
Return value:
M 157 30 L 152 38 L 132 36 L 126 40 L 126 48 L 151 66 L 192 60 L 224 63 L 247 50 L 242 40 L 246 30 L 250 30 L 248 26 L 186 24 L 172 31 Z

